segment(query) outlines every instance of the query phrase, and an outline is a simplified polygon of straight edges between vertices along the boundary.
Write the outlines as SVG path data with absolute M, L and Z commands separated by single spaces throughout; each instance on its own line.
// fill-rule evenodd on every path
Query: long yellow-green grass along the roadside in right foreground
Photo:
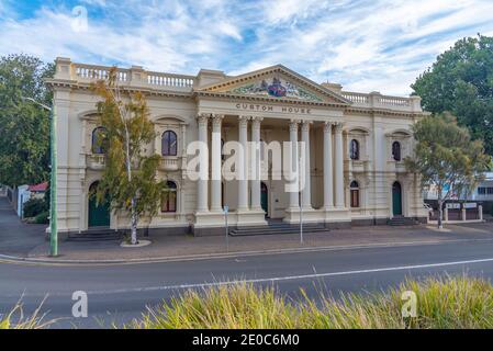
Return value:
M 417 296 L 417 317 L 403 318 L 402 293 Z M 493 328 L 493 286 L 468 278 L 406 281 L 374 295 L 301 302 L 279 295 L 273 287 L 221 285 L 188 291 L 148 312 L 128 328 L 143 329 L 456 329 Z

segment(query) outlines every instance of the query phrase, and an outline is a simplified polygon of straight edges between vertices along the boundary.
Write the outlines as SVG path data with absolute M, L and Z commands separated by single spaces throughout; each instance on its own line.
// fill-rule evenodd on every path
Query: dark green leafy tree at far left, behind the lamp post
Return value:
M 48 178 L 49 116 L 22 97 L 51 104 L 43 80 L 54 71 L 54 65 L 32 56 L 0 58 L 0 183 L 36 184 Z

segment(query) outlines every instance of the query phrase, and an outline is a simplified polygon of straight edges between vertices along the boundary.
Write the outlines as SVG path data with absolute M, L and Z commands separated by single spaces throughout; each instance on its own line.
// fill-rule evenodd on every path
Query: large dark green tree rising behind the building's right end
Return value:
M 493 37 L 463 38 L 412 84 L 425 110 L 450 112 L 493 155 Z

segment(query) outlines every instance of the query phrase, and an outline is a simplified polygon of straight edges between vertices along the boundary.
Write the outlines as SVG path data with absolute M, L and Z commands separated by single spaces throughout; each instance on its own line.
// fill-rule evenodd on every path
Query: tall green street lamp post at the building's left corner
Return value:
M 56 213 L 56 171 L 57 171 L 57 149 L 56 149 L 56 118 L 55 109 L 47 106 L 32 98 L 22 98 L 32 103 L 49 111 L 49 140 L 51 140 L 51 181 L 49 181 L 49 256 L 58 256 L 58 228 L 57 228 L 57 213 Z

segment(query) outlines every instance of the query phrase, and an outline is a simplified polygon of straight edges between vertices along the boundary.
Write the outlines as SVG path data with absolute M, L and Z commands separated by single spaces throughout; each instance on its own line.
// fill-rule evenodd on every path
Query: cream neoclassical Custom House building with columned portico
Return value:
M 90 83 L 110 68 L 56 61 L 48 80 L 54 90 L 58 140 L 58 228 L 126 228 L 125 214 L 97 206 L 90 196 L 104 167 L 97 143 L 98 98 Z M 232 227 L 264 226 L 271 220 L 327 227 L 385 224 L 395 217 L 426 220 L 417 174 L 404 158 L 411 155 L 412 125 L 425 115 L 418 97 L 344 91 L 336 83 L 316 83 L 281 65 L 229 77 L 202 69 L 197 76 L 119 70 L 122 89 L 145 93 L 156 139 L 149 152 L 161 156 L 158 177 L 168 182 L 159 214 L 141 226 L 163 233 L 224 233 L 224 206 Z M 212 135 L 220 136 L 213 141 Z M 221 168 L 223 146 L 236 140 L 304 141 L 305 186 L 285 192 L 272 160 L 261 159 L 264 179 L 198 180 L 188 177 L 187 147 L 210 148 L 209 171 Z M 245 159 L 247 170 L 251 165 Z M 267 162 L 267 165 L 266 165 Z M 300 200 L 301 199 L 301 200 Z

